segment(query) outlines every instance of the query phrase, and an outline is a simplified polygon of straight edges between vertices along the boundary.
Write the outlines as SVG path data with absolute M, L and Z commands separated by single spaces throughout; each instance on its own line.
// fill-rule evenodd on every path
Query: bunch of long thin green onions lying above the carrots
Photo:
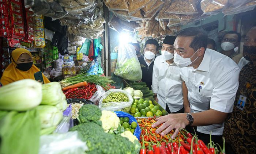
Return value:
M 90 82 L 96 85 L 102 86 L 104 89 L 110 89 L 110 84 L 115 83 L 111 77 L 104 77 L 104 76 L 98 76 L 98 75 L 89 75 L 87 72 L 81 72 L 77 74 L 74 77 L 68 77 L 64 80 L 61 80 L 61 86 L 67 87 L 74 84 L 78 84 L 80 82 Z

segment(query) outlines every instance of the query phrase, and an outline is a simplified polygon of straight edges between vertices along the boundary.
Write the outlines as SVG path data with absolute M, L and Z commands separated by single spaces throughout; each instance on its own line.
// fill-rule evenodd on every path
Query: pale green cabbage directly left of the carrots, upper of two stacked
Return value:
M 57 105 L 64 98 L 59 82 L 50 82 L 42 85 L 42 105 Z M 63 96 L 64 95 L 64 96 Z

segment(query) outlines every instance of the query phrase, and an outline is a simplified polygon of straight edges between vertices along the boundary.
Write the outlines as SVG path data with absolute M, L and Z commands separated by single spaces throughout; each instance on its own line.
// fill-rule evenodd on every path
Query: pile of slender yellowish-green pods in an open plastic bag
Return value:
M 129 99 L 124 93 L 113 92 L 113 93 L 110 93 L 105 99 L 103 99 L 102 103 L 125 102 L 125 101 L 129 101 Z

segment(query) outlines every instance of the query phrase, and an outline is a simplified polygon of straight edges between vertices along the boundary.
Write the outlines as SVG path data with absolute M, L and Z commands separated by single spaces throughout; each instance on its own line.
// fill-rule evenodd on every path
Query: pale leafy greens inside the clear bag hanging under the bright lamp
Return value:
M 121 78 L 130 81 L 139 81 L 142 79 L 142 70 L 138 59 L 125 59 L 125 61 L 118 62 L 116 65 L 116 70 L 114 72 L 116 76 L 120 76 Z

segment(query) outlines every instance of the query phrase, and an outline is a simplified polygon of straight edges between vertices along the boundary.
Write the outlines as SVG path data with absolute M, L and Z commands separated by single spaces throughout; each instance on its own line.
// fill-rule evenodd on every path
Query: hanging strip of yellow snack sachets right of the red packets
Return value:
M 34 46 L 45 47 L 44 21 L 41 16 L 33 16 L 34 21 Z

